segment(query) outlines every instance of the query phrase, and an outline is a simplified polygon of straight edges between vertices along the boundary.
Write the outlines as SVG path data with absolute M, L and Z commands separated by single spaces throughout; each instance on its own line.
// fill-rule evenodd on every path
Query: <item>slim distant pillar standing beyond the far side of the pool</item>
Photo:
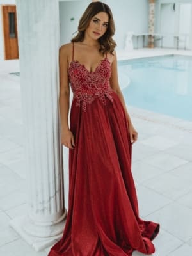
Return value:
M 149 0 L 148 47 L 154 48 L 155 0 Z

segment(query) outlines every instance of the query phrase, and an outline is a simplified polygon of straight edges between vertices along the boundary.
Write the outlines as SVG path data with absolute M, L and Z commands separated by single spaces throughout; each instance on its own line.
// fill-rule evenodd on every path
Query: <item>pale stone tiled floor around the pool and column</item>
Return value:
M 118 52 L 119 59 L 154 56 L 163 49 Z M 192 55 L 192 52 L 178 51 Z M 0 255 L 45 256 L 35 252 L 9 227 L 26 211 L 19 61 L 0 62 Z M 139 139 L 133 146 L 132 173 L 140 216 L 161 224 L 154 240 L 156 256 L 192 255 L 192 122 L 128 106 Z M 64 154 L 66 151 L 64 150 Z M 65 158 L 67 155 L 65 154 Z M 65 204 L 68 198 L 65 171 Z M 134 256 L 143 254 L 134 252 Z

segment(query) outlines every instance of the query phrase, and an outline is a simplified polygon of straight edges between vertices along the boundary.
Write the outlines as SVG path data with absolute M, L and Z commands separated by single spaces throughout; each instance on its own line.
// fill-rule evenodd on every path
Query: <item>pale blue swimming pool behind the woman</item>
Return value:
M 192 57 L 118 61 L 118 76 L 127 105 L 192 121 Z

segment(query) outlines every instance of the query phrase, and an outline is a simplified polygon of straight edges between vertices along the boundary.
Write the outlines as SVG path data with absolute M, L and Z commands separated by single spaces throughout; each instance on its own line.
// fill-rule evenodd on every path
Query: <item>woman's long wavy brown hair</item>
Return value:
M 109 16 L 108 28 L 104 35 L 98 39 L 100 44 L 99 51 L 102 52 L 102 54 L 105 54 L 106 52 L 113 54 L 113 51 L 116 47 L 116 42 L 112 38 L 112 36 L 115 34 L 115 23 L 108 4 L 102 2 L 92 2 L 88 5 L 83 15 L 81 16 L 81 19 L 79 20 L 78 33 L 76 36 L 74 36 L 74 38 L 72 38 L 71 42 L 83 41 L 84 32 L 86 31 L 86 28 L 88 28 L 92 17 L 99 12 L 106 12 Z

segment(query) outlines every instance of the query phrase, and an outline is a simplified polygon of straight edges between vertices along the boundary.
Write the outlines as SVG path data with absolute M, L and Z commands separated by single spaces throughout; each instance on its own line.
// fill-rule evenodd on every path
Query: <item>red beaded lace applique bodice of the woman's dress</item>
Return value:
M 91 104 L 95 98 L 99 98 L 104 105 L 106 97 L 113 102 L 113 90 L 109 84 L 111 65 L 107 57 L 100 61 L 93 72 L 88 71 L 79 61 L 72 61 L 68 67 L 68 75 L 74 99 L 77 100 L 76 106 L 80 106 L 82 102 L 83 111 L 86 111 L 87 104 Z

